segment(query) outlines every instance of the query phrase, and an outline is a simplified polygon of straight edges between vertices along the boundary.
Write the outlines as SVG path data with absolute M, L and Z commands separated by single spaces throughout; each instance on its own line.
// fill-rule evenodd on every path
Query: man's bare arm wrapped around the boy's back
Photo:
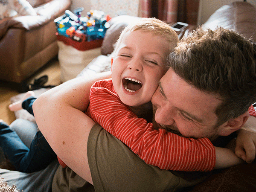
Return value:
M 43 93 L 33 104 L 38 128 L 49 145 L 67 166 L 90 183 L 87 140 L 95 122 L 83 111 L 89 104 L 91 85 L 107 78 L 110 72 L 67 81 Z

